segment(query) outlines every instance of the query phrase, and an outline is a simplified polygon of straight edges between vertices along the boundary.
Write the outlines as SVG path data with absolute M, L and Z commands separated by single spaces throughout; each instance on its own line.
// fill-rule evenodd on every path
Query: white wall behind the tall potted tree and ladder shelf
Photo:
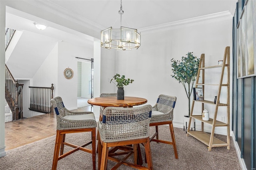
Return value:
M 205 53 L 205 65 L 217 65 L 218 60 L 223 59 L 226 46 L 231 47 L 230 55 L 232 56 L 232 17 L 230 16 L 186 24 L 177 28 L 170 27 L 159 32 L 142 32 L 139 49 L 117 51 L 116 73 L 134 79 L 132 84 L 124 87 L 126 96 L 146 98 L 147 104 L 150 105 L 156 103 L 160 94 L 176 96 L 173 122 L 174 126 L 183 127 L 183 116 L 188 115 L 188 99 L 182 84 L 171 77 L 170 60 L 172 58 L 180 60 L 190 51 L 197 57 Z M 104 52 L 108 53 L 108 51 Z M 112 76 L 109 72 L 102 71 L 102 73 L 104 73 L 102 77 Z M 212 80 L 209 74 L 206 73 L 205 77 Z M 219 77 L 214 81 L 218 84 Z M 207 91 L 207 93 L 213 101 L 216 91 Z M 214 108 L 207 109 L 210 116 L 213 116 Z M 221 115 L 225 113 L 220 113 L 219 116 Z M 225 130 L 220 131 L 226 133 Z

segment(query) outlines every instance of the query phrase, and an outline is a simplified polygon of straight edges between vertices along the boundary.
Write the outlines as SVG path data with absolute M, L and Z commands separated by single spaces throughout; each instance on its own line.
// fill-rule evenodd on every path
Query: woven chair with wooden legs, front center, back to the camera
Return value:
M 106 170 L 108 159 L 118 162 L 112 169 L 118 168 L 121 164 L 145 169 L 137 162 L 138 157 L 141 157 L 137 150 L 140 143 L 145 146 L 148 169 L 153 169 L 149 139 L 151 110 L 151 105 L 134 108 L 106 107 L 104 109 L 103 121 L 98 122 L 98 167 L 100 170 Z M 109 147 L 112 148 L 108 150 Z M 122 152 L 116 153 L 115 151 L 118 149 L 125 150 L 124 158 L 114 157 L 124 155 Z M 134 154 L 134 163 L 126 162 L 126 159 L 132 154 Z

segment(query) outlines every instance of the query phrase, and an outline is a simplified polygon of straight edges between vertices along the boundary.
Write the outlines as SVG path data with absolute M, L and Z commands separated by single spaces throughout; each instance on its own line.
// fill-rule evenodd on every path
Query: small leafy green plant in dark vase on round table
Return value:
M 113 79 L 116 80 L 116 83 L 113 82 Z M 114 83 L 117 87 L 117 99 L 124 100 L 124 86 L 132 83 L 134 80 L 126 79 L 124 75 L 122 77 L 120 74 L 114 75 L 114 77 L 110 80 L 110 83 Z

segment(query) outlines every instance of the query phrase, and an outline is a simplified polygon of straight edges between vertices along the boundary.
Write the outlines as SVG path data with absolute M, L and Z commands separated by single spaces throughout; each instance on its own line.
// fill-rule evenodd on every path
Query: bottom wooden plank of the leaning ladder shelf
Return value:
M 202 131 L 189 131 L 188 134 L 199 140 L 200 142 L 210 146 L 210 134 Z M 218 138 L 213 137 L 212 147 L 228 146 L 228 144 Z

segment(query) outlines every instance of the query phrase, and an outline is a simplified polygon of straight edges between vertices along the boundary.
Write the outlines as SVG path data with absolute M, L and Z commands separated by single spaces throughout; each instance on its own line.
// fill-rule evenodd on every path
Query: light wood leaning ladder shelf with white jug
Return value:
M 192 102 L 192 108 L 191 108 L 191 113 L 190 113 L 190 121 L 188 124 L 188 132 L 187 136 L 191 135 L 194 138 L 198 139 L 199 141 L 203 142 L 208 146 L 208 150 L 211 151 L 212 147 L 219 147 L 219 146 L 227 146 L 227 149 L 230 149 L 230 47 L 225 48 L 224 52 L 224 57 L 223 57 L 223 63 L 222 65 L 215 65 L 215 66 L 209 66 L 209 67 L 204 67 L 204 54 L 201 55 L 200 57 L 200 63 L 198 67 L 198 74 L 196 77 L 196 87 L 202 86 L 203 93 L 204 93 L 204 87 L 206 85 L 218 85 L 218 95 L 216 99 L 216 104 L 213 101 L 195 101 L 193 100 Z M 220 71 L 220 82 L 219 84 L 205 84 L 204 83 L 204 70 L 205 69 L 213 69 L 213 68 L 221 68 Z M 223 76 L 224 76 L 224 70 L 226 68 L 226 78 L 227 82 L 223 83 Z M 201 73 L 201 75 L 200 75 Z M 199 77 L 201 77 L 201 83 L 199 83 Z M 226 87 L 226 102 L 225 103 L 220 103 L 220 94 L 222 92 L 222 87 Z M 205 95 L 205 93 L 204 93 Z M 195 102 L 201 103 L 201 109 L 202 111 L 204 110 L 204 105 L 215 105 L 215 112 L 213 118 L 209 121 L 204 121 L 202 119 L 202 111 L 200 114 L 195 114 L 193 113 L 194 110 L 194 104 Z M 218 113 L 218 107 L 227 107 L 226 108 L 226 121 L 227 123 L 217 121 L 217 113 Z M 200 131 L 191 131 L 190 130 L 190 123 L 192 118 L 201 121 L 201 130 Z M 204 123 L 210 124 L 212 127 L 212 130 L 210 133 L 204 132 Z M 227 140 L 226 142 L 214 137 L 214 130 L 215 127 L 227 127 Z

